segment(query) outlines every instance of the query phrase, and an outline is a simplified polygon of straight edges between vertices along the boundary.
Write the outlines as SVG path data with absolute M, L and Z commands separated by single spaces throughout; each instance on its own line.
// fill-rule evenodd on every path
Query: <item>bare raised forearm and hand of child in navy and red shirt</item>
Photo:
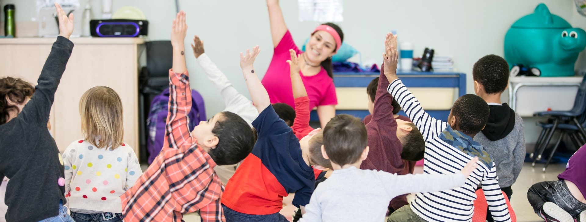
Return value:
M 246 54 L 240 53 L 240 68 L 242 68 L 244 81 L 246 81 L 250 98 L 253 99 L 254 107 L 257 108 L 258 113 L 262 113 L 268 105 L 271 105 L 271 99 L 268 97 L 267 89 L 254 73 L 253 64 L 258 53 L 260 53 L 258 46 L 255 46 L 252 52 L 247 48 Z

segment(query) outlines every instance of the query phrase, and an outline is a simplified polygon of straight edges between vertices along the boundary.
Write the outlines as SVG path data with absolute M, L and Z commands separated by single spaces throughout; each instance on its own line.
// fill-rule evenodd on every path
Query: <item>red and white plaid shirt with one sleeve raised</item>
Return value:
M 169 70 L 169 81 L 165 143 L 147 171 L 120 197 L 124 221 L 179 222 L 184 213 L 197 210 L 202 221 L 225 221 L 222 181 L 213 170 L 216 163 L 188 128 L 189 74 Z

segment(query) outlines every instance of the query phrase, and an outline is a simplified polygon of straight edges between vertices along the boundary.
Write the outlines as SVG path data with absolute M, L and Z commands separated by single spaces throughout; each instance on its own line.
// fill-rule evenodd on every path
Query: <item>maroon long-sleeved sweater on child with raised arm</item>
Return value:
M 381 66 L 382 67 L 382 66 Z M 360 169 L 376 169 L 391 174 L 405 175 L 409 173 L 406 162 L 401 159 L 403 145 L 397 138 L 397 122 L 393 118 L 393 96 L 387 92 L 389 81 L 380 69 L 379 86 L 374 98 L 372 120 L 366 124 L 368 133 L 369 155 L 362 161 Z M 391 200 L 393 209 L 409 204 L 406 195 Z

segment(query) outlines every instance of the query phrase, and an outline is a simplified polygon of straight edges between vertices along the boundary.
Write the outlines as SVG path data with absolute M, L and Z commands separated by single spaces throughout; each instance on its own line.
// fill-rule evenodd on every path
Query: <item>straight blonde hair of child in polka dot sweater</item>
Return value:
M 106 86 L 88 89 L 79 101 L 81 133 L 97 148 L 115 149 L 122 144 L 124 126 L 122 101 L 118 93 Z

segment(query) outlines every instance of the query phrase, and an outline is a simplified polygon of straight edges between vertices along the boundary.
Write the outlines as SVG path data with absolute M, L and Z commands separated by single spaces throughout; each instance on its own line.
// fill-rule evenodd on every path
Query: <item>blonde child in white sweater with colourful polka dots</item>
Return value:
M 71 217 L 122 221 L 120 196 L 142 174 L 137 156 L 122 141 L 122 102 L 113 89 L 97 86 L 80 99 L 83 140 L 63 152 L 65 197 Z

